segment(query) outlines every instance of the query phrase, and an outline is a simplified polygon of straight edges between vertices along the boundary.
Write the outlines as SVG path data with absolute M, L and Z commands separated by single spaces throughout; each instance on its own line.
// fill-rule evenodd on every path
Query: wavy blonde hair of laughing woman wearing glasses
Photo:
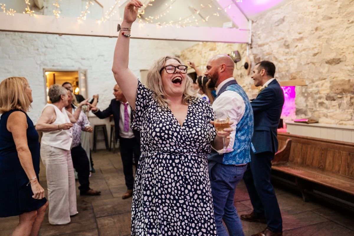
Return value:
M 150 68 L 150 70 L 148 71 L 147 84 L 146 84 L 146 86 L 153 92 L 153 98 L 156 100 L 156 102 L 162 108 L 165 109 L 169 107 L 169 100 L 166 98 L 166 93 L 164 87 L 162 86 L 160 70 L 168 59 L 174 59 L 182 65 L 182 60 L 179 59 L 178 57 L 170 57 L 170 56 L 161 57 L 154 63 L 152 68 Z M 188 105 L 190 103 L 196 102 L 196 100 L 198 99 L 197 96 L 198 91 L 195 91 L 193 89 L 192 78 L 188 74 L 186 76 L 187 76 L 187 83 L 185 84 L 184 87 L 182 103 Z

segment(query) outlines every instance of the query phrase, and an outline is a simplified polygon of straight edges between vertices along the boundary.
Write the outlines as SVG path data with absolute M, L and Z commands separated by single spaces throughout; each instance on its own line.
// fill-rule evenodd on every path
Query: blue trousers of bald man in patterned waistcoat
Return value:
M 234 206 L 234 195 L 235 188 L 246 171 L 246 166 L 247 164 L 234 166 L 223 165 L 215 161 L 209 162 L 215 223 L 219 236 L 244 236 L 241 221 Z M 227 230 L 222 224 L 223 220 Z

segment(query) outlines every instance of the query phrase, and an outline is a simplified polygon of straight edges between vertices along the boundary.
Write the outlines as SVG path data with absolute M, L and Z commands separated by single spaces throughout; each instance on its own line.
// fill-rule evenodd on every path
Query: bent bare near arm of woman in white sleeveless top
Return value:
M 59 125 L 52 124 L 57 118 L 53 107 L 46 107 L 36 124 L 36 130 L 38 131 L 55 131 L 60 129 L 69 129 L 73 126 L 72 123 L 63 123 Z

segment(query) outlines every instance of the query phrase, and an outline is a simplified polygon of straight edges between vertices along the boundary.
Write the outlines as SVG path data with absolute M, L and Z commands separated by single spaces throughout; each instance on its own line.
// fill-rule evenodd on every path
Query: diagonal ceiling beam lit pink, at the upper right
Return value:
M 219 4 L 220 8 L 226 8 L 225 14 L 229 16 L 237 28 L 241 30 L 249 30 L 248 19 L 233 0 L 219 0 L 217 3 Z M 247 4 L 246 1 L 244 3 Z

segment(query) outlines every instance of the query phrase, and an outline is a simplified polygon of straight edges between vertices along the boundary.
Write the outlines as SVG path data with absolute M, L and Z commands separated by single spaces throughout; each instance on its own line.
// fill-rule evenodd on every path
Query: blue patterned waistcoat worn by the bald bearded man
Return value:
M 253 147 L 251 143 L 253 136 L 253 111 L 246 92 L 237 84 L 236 80 L 229 81 L 222 86 L 218 96 L 227 90 L 240 94 L 245 102 L 245 113 L 236 127 L 234 150 L 225 154 L 219 154 L 215 150 L 212 150 L 208 156 L 208 161 L 216 161 L 225 165 L 245 164 L 251 161 L 250 148 L 251 146 Z

